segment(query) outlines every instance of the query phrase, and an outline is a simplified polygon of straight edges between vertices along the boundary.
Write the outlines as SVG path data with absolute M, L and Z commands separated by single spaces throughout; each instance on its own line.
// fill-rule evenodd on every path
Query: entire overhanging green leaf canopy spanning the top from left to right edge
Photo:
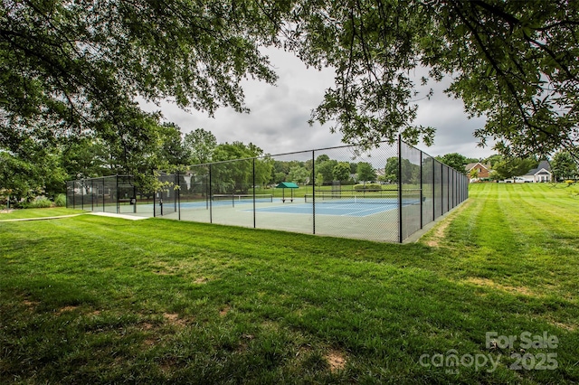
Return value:
M 563 149 L 577 162 L 578 26 L 579 2 L 566 0 L 4 1 L 0 151 L 98 138 L 138 172 L 133 154 L 156 140 L 159 119 L 139 99 L 247 111 L 241 82 L 274 83 L 260 49 L 277 46 L 336 71 L 311 121 L 346 143 L 431 144 L 416 101 L 447 81 L 471 117 L 487 118 L 482 144 L 521 157 Z

